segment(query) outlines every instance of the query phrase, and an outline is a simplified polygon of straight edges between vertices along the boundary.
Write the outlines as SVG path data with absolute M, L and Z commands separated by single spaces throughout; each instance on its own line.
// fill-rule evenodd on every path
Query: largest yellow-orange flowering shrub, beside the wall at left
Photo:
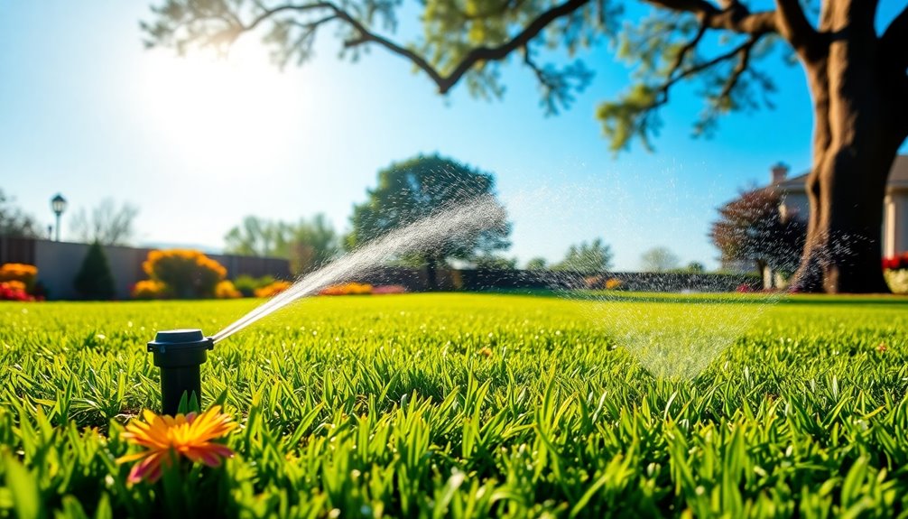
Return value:
M 152 250 L 142 264 L 145 273 L 180 299 L 211 298 L 227 269 L 199 250 Z

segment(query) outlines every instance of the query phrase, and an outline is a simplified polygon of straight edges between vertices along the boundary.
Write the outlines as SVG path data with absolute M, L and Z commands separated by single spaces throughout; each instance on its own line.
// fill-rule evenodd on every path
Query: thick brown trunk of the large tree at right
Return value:
M 857 10 L 826 3 L 821 30 L 836 37 L 823 54 L 802 55 L 814 100 L 814 148 L 807 240 L 792 282 L 798 291 L 890 291 L 882 267 L 883 198 L 900 142 L 892 137 L 873 23 Z

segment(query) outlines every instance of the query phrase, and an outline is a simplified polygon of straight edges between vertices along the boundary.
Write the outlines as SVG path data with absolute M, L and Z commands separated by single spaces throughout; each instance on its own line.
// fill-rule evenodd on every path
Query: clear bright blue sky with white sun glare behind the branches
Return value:
M 521 262 L 601 237 L 617 269 L 637 269 L 654 246 L 716 267 L 706 237 L 716 207 L 765 182 L 775 162 L 809 166 L 804 74 L 777 61 L 766 64 L 775 111 L 733 114 L 715 138 L 692 139 L 702 105 L 691 85 L 662 112 L 656 152 L 635 145 L 616 159 L 594 113 L 627 86 L 627 69 L 606 46 L 583 56 L 597 72 L 586 92 L 546 117 L 518 64 L 504 70 L 501 101 L 463 86 L 443 98 L 378 48 L 338 60 L 331 30 L 311 62 L 282 73 L 254 36 L 229 62 L 148 51 L 138 25 L 148 5 L 0 0 L 0 188 L 45 223 L 63 193 L 64 239 L 67 216 L 106 197 L 139 208 L 139 244 L 216 250 L 248 214 L 324 212 L 344 230 L 376 171 L 437 151 L 496 174 L 514 223 L 507 255 Z M 882 5 L 893 13 L 903 1 Z

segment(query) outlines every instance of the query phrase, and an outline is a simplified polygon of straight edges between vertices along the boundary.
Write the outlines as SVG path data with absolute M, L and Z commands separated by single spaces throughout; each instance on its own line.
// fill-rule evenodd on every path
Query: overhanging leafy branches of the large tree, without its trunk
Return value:
M 725 113 L 773 107 L 769 94 L 775 83 L 757 65 L 780 54 L 779 49 L 786 63 L 795 63 L 791 48 L 779 45 L 782 38 L 703 30 L 696 12 L 718 13 L 710 3 L 627 4 L 633 19 L 625 16 L 626 3 L 618 0 L 425 0 L 418 11 L 421 34 L 410 42 L 395 42 L 401 2 L 350 0 L 336 5 L 308 0 L 292 10 L 270 10 L 275 4 L 257 0 L 163 0 L 153 7 L 153 21 L 143 23 L 143 29 L 150 46 L 171 46 L 183 53 L 192 46 L 222 51 L 251 27 L 264 26 L 263 40 L 282 67 L 310 59 L 316 34 L 332 25 L 342 42 L 341 55 L 355 60 L 380 46 L 410 60 L 415 71 L 427 73 L 439 93 L 466 83 L 470 93 L 486 99 L 505 92 L 501 66 L 516 58 L 535 77 L 547 114 L 567 108 L 574 94 L 591 82 L 593 72 L 579 59 L 560 67 L 540 60 L 553 53 L 573 58 L 582 49 L 607 42 L 627 63 L 632 79 L 627 93 L 597 110 L 615 152 L 627 149 L 634 139 L 652 148 L 651 138 L 661 124 L 658 110 L 682 82 L 697 80 L 697 94 L 704 100 L 695 135 L 710 135 Z M 743 3 L 727 10 L 740 14 L 736 17 L 750 14 Z

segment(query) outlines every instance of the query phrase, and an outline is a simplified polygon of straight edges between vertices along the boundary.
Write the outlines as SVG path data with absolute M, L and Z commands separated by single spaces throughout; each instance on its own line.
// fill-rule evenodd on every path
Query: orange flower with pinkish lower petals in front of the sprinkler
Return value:
M 231 416 L 221 413 L 221 406 L 197 415 L 158 416 L 145 410 L 144 422 L 133 420 L 126 426 L 123 437 L 146 450 L 141 453 L 124 455 L 117 463 L 139 461 L 129 472 L 129 482 L 136 483 L 147 478 L 152 483 L 161 477 L 161 466 L 170 466 L 180 456 L 208 466 L 220 466 L 221 460 L 231 457 L 233 451 L 227 446 L 212 443 L 213 439 L 227 436 L 237 427 Z

